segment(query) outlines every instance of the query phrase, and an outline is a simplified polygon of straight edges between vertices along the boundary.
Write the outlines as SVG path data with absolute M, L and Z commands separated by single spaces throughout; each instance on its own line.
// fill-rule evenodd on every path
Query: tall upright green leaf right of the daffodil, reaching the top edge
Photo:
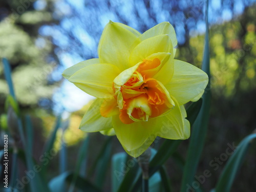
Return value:
M 192 126 L 191 137 L 188 146 L 186 163 L 184 167 L 181 191 L 186 191 L 187 184 L 191 185 L 194 181 L 194 176 L 198 167 L 200 156 L 203 150 L 205 136 L 208 127 L 210 113 L 210 69 L 209 69 L 209 28 L 208 28 L 208 0 L 206 1 L 206 32 L 202 70 L 209 77 L 208 85 L 203 95 L 202 108 L 199 115 Z

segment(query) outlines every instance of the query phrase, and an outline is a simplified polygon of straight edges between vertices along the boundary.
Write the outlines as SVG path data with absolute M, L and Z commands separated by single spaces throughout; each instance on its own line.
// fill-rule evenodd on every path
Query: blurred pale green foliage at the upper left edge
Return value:
M 40 98 L 51 98 L 55 86 L 49 86 L 48 77 L 55 69 L 56 61 L 47 61 L 53 45 L 46 38 L 38 36 L 37 32 L 38 26 L 52 20 L 50 13 L 31 11 L 32 3 L 26 1 L 29 3 L 28 9 L 24 9 L 20 15 L 15 14 L 17 7 L 22 6 L 20 2 L 15 4 L 12 1 L 10 6 L 13 6 L 14 11 L 0 20 L 0 58 L 7 58 L 11 64 L 17 101 L 28 106 L 36 105 Z M 33 30 L 36 30 L 37 36 L 34 36 Z M 3 67 L 0 65 L 0 95 L 6 96 L 7 90 Z

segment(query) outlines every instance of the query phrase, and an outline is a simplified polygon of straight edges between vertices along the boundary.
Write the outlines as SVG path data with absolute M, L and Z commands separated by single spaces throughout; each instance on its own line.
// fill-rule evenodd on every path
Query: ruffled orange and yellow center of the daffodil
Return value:
M 168 91 L 161 82 L 152 78 L 160 63 L 158 58 L 144 59 L 125 83 L 121 86 L 113 83 L 119 118 L 123 123 L 147 121 L 174 107 Z

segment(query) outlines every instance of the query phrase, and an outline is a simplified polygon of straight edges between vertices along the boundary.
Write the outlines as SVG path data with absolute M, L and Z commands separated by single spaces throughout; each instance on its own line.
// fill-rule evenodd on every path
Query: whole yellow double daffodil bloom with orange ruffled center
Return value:
M 63 76 L 97 97 L 80 129 L 116 134 L 124 150 L 138 157 L 157 136 L 187 139 L 190 124 L 184 104 L 203 94 L 208 76 L 174 59 L 172 25 L 163 22 L 143 34 L 110 22 L 98 46 L 99 58 L 77 63 Z

